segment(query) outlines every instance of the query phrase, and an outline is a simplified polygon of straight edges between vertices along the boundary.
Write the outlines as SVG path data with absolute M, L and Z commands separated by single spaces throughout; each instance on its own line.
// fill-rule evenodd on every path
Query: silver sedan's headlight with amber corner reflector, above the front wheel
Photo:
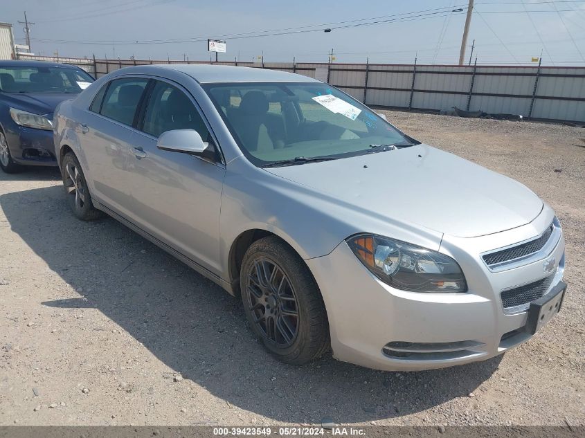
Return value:
M 357 235 L 347 242 L 366 268 L 396 289 L 412 292 L 467 291 L 461 268 L 447 255 L 375 235 Z

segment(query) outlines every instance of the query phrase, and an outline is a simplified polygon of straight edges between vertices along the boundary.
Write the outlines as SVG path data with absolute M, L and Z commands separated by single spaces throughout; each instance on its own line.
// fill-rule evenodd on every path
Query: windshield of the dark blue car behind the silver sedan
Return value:
M 80 93 L 93 77 L 75 67 L 0 66 L 4 93 Z

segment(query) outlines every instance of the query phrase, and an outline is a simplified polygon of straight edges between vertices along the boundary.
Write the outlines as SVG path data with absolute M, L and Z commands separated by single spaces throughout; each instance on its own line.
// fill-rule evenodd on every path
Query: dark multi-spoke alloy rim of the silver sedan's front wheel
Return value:
M 299 314 L 294 289 L 284 271 L 269 259 L 255 259 L 246 295 L 253 322 L 264 339 L 278 347 L 290 347 L 298 335 Z

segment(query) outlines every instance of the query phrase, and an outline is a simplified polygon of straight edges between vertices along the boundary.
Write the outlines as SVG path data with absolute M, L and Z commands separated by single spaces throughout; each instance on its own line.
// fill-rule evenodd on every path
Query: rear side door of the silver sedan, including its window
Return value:
M 132 202 L 127 156 L 147 83 L 147 78 L 123 77 L 105 84 L 89 108 L 87 125 L 80 126 L 93 194 L 122 215 L 128 215 Z

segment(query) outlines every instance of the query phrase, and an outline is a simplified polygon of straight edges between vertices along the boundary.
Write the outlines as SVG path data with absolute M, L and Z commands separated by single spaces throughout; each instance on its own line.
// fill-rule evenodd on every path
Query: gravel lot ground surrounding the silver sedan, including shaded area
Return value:
M 569 292 L 537 336 L 429 372 L 283 365 L 218 286 L 113 219 L 76 220 L 53 170 L 0 172 L 0 425 L 583 425 L 585 130 L 386 113 L 555 208 Z

